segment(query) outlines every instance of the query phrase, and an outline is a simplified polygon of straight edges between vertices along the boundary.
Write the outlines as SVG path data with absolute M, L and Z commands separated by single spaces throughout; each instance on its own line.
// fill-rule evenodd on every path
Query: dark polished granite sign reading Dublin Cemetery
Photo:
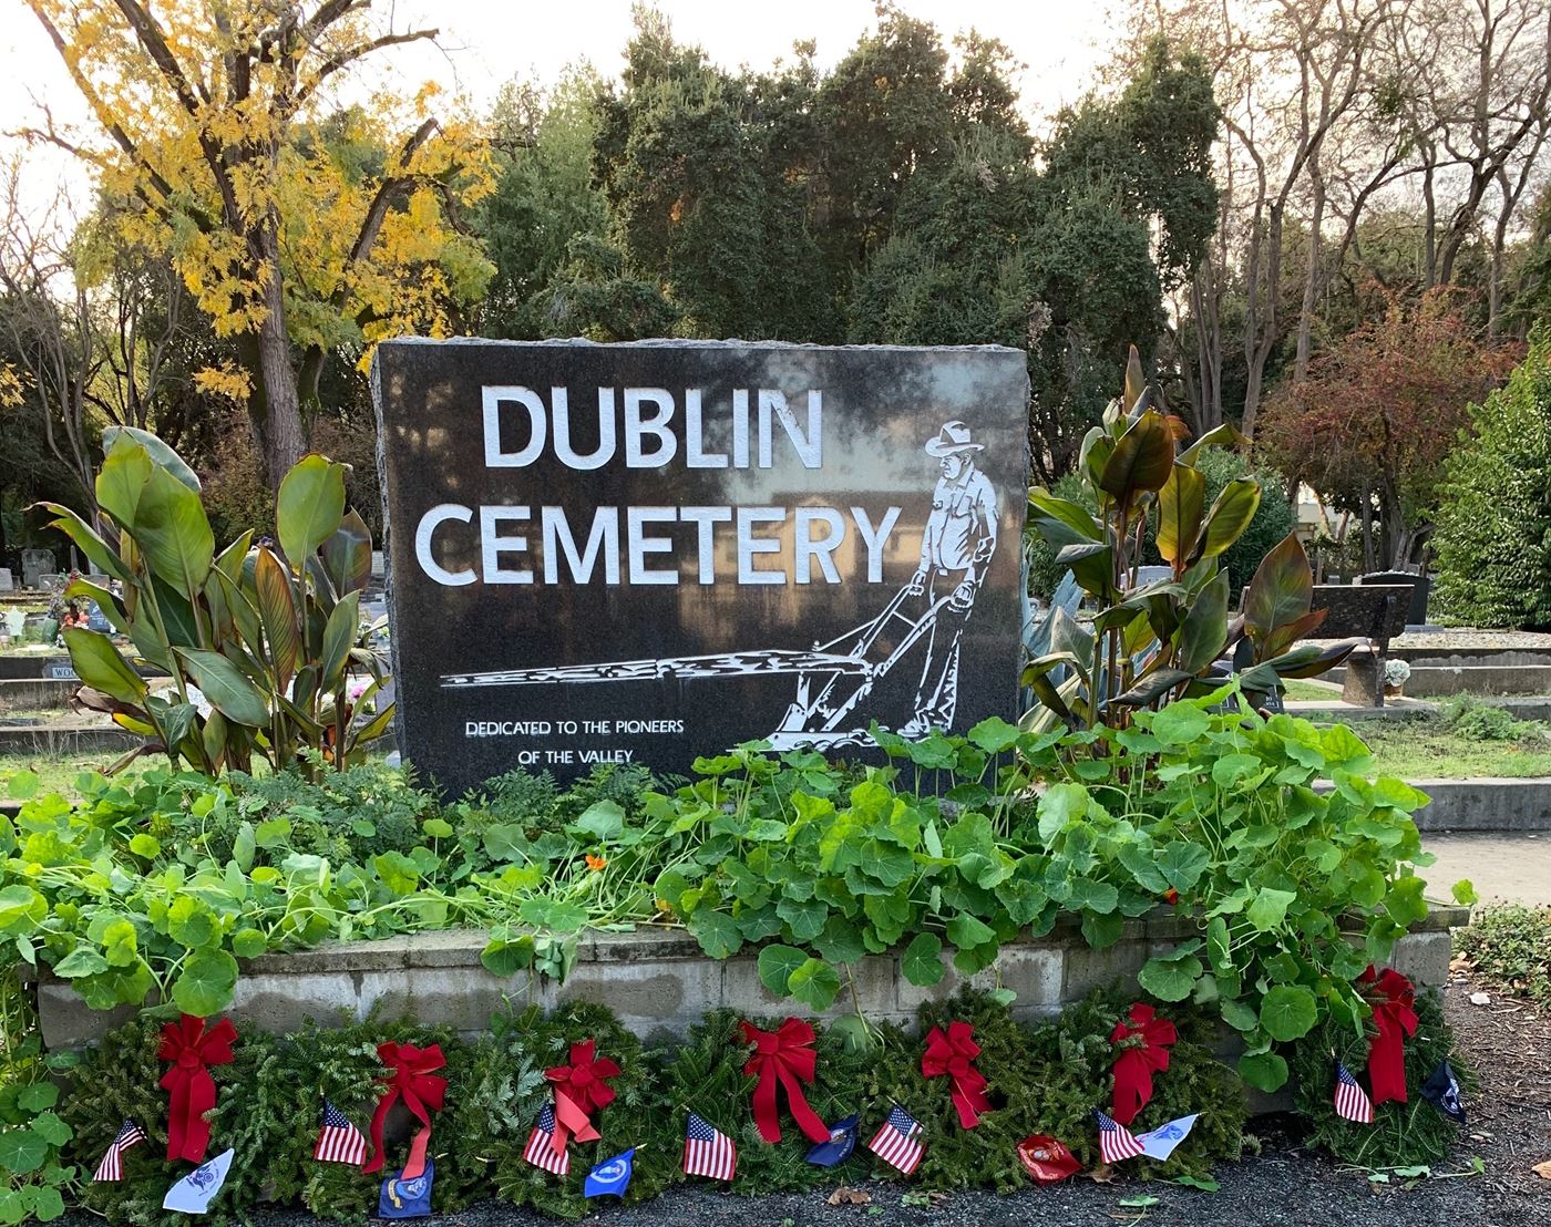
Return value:
M 1024 355 L 386 341 L 400 746 L 444 788 L 1016 706 Z

